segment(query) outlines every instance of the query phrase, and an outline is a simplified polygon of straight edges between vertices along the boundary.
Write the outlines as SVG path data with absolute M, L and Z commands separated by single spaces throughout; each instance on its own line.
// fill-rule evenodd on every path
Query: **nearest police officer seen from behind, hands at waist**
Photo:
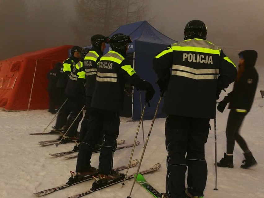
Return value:
M 237 74 L 235 65 L 218 46 L 206 41 L 206 35 L 205 23 L 192 20 L 185 26 L 184 41 L 168 46 L 153 59 L 157 83 L 161 92 L 166 92 L 163 112 L 168 114 L 164 198 L 203 197 L 209 121 L 215 118 L 216 100 L 221 90 L 227 88 Z

